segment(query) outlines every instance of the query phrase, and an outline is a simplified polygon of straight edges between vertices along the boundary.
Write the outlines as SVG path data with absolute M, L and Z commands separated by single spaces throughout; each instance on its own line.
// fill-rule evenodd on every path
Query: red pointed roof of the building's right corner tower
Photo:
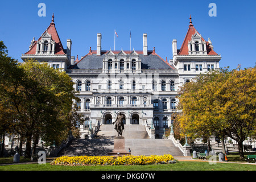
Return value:
M 185 36 L 185 39 L 183 41 L 183 44 L 180 48 L 178 55 L 188 55 L 188 42 L 191 41 L 192 35 L 194 35 L 194 34 L 196 34 L 196 32 L 198 32 L 191 22 L 191 19 L 192 19 L 191 16 L 189 19 L 190 19 L 190 22 L 189 22 L 189 26 L 188 26 L 188 32 L 187 32 L 187 35 Z M 203 37 L 201 39 L 204 42 L 206 42 Z M 207 54 L 208 55 L 218 55 L 215 51 L 213 51 L 212 47 L 209 46 L 209 42 L 206 42 L 206 43 L 207 43 Z

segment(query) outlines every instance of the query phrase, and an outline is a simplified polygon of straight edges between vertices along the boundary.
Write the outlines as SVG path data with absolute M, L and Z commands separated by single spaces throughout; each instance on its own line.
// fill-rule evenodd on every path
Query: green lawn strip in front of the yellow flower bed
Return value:
M 253 164 L 208 162 L 178 162 L 146 166 L 52 166 L 46 164 L 16 164 L 0 166 L 0 171 L 256 171 Z

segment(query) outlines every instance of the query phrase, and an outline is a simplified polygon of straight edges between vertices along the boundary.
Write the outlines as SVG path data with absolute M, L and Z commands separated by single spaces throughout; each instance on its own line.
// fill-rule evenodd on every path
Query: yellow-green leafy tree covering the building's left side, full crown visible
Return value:
M 65 72 L 47 63 L 27 60 L 20 65 L 26 77 L 19 92 L 18 128 L 26 136 L 25 157 L 30 158 L 32 138 L 42 137 L 47 143 L 60 144 L 75 125 L 68 117 L 75 99 L 73 82 Z M 47 140 L 51 139 L 51 140 Z

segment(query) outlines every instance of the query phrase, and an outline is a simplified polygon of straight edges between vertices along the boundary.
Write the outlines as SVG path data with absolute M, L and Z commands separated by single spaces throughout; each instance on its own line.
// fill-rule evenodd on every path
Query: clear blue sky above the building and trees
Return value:
M 38 16 L 39 3 L 46 4 L 46 17 Z M 209 3 L 216 3 L 217 16 L 210 17 Z M 172 59 L 172 40 L 181 47 L 192 22 L 204 39 L 213 43 L 221 54 L 220 67 L 254 67 L 256 59 L 256 1 L 2 1 L 0 4 L 0 40 L 9 49 L 9 56 L 20 59 L 28 51 L 33 37 L 37 40 L 55 15 L 55 26 L 66 48 L 72 39 L 72 56 L 79 57 L 96 49 L 97 33 L 102 34 L 102 49 L 114 49 L 114 30 L 118 38 L 115 50 L 142 50 L 142 35 L 148 35 L 148 49 L 155 47 L 163 59 Z

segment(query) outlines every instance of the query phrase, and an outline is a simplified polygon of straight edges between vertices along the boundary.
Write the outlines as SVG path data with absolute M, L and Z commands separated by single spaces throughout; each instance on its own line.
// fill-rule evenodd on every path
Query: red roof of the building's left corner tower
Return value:
M 52 40 L 55 41 L 55 55 L 65 55 L 64 48 L 63 48 L 63 46 L 60 42 L 59 35 L 58 35 L 57 30 L 55 28 L 55 23 L 53 23 L 54 22 L 53 18 L 54 18 L 54 16 L 52 15 L 52 22 L 51 22 L 51 24 L 49 25 L 49 27 L 47 28 L 46 31 L 48 32 L 48 34 L 52 35 Z M 43 34 L 46 31 L 44 31 Z M 40 36 L 40 38 L 36 42 L 38 42 L 41 39 L 42 39 L 42 36 Z M 36 42 L 31 47 L 31 49 L 28 52 L 25 53 L 26 55 L 35 55 L 35 53 L 36 53 Z

